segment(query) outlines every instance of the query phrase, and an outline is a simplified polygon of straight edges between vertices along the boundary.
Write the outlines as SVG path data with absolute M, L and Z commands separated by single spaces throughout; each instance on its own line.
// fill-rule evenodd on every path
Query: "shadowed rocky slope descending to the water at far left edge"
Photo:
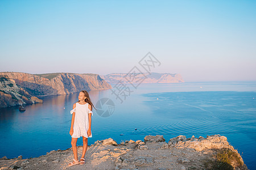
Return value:
M 14 79 L 0 75 L 0 108 L 42 102 L 43 100 L 31 96 L 23 88 L 18 87 Z

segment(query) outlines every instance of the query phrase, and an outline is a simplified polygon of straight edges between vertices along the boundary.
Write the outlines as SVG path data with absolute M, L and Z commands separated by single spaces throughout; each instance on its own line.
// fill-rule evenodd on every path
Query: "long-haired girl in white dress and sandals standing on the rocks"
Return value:
M 87 150 L 88 145 L 88 137 L 92 138 L 91 124 L 92 124 L 92 101 L 90 101 L 90 97 L 87 91 L 82 90 L 79 93 L 79 101 L 73 104 L 73 109 L 71 110 L 72 121 L 71 121 L 71 129 L 69 134 L 72 137 L 71 145 L 74 154 L 73 162 L 69 163 L 69 166 L 76 164 L 84 164 L 85 163 L 85 152 Z M 96 109 L 94 107 L 94 109 Z M 82 137 L 83 146 L 82 146 L 82 156 L 80 162 L 77 158 L 77 139 Z

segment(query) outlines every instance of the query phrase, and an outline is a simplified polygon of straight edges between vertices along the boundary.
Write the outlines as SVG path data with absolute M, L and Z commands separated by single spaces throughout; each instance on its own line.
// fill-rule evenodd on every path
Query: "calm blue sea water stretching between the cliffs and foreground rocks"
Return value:
M 118 143 L 143 141 L 149 134 L 163 135 L 166 142 L 180 134 L 220 134 L 240 152 L 249 169 L 256 169 L 256 82 L 140 84 L 131 90 L 122 104 L 111 90 L 89 92 L 94 105 L 108 97 L 115 108 L 110 117 L 100 117 L 93 109 L 88 145 L 106 138 Z M 44 97 L 43 104 L 27 105 L 25 112 L 18 107 L 0 109 L 0 157 L 30 158 L 70 148 L 70 110 L 77 96 Z M 81 138 L 77 145 L 82 145 Z

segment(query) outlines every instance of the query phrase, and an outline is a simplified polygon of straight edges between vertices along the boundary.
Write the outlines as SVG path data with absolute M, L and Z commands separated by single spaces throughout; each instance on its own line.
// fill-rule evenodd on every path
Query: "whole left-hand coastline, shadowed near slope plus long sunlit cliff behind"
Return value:
M 0 73 L 0 108 L 42 102 L 37 97 L 112 88 L 98 74 Z M 35 97 L 37 96 L 37 97 Z

